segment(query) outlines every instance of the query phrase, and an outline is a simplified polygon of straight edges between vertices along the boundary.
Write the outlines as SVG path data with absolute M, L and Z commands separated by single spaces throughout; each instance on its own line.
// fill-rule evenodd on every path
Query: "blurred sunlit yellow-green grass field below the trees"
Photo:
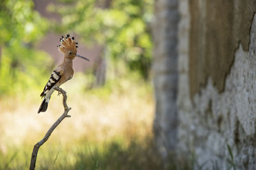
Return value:
M 84 90 L 76 74 L 62 88 L 72 108 L 40 148 L 36 169 L 148 169 L 154 101 L 144 81 L 109 81 Z M 0 99 L 0 169 L 28 169 L 33 145 L 63 113 L 54 92 L 47 112 L 37 114 L 40 91 Z M 151 166 L 152 164 L 150 164 Z

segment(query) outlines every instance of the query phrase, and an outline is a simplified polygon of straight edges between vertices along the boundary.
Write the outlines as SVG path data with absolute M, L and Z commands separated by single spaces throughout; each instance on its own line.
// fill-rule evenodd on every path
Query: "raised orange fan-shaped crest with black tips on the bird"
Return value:
M 77 44 L 78 43 L 75 41 L 75 38 L 74 37 L 70 38 L 70 35 L 67 34 L 65 38 L 61 36 L 60 45 L 58 45 L 57 48 L 60 52 L 63 52 L 63 53 L 72 52 L 76 54 L 77 47 L 78 47 Z

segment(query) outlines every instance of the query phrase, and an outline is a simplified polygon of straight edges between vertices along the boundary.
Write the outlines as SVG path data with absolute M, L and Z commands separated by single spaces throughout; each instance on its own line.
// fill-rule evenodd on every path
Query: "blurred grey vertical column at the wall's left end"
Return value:
M 156 1 L 155 17 L 153 25 L 153 73 L 156 98 L 154 135 L 159 153 L 166 158 L 177 145 L 178 1 Z

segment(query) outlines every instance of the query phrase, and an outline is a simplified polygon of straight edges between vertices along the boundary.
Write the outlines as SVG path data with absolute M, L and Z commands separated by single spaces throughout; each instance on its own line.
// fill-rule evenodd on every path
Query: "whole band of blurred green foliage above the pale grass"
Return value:
M 76 34 L 85 46 L 97 46 L 94 51 L 100 52 L 96 57 L 108 62 L 104 74 L 112 72 L 115 74 L 111 78 L 116 78 L 135 71 L 148 80 L 152 58 L 151 20 L 152 0 L 4 0 L 0 6 L 0 80 L 4 80 L 0 84 L 0 96 L 42 87 L 42 78 L 56 65 L 52 63 L 52 54 L 46 52 L 58 45 L 57 35 L 67 32 Z M 42 42 L 49 34 L 54 36 Z M 55 46 L 48 46 L 46 52 L 40 48 L 52 41 Z M 95 74 L 92 65 L 99 66 L 99 59 L 93 61 L 86 68 L 87 73 Z

